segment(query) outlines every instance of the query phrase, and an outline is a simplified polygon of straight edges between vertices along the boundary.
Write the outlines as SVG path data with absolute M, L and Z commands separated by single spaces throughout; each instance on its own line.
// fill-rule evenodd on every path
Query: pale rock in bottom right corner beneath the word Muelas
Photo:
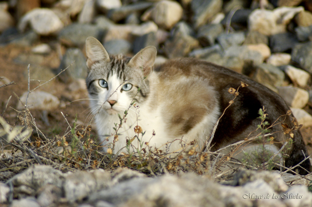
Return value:
M 287 192 L 280 195 L 287 206 L 300 207 L 311 206 L 312 193 L 306 186 L 293 186 Z

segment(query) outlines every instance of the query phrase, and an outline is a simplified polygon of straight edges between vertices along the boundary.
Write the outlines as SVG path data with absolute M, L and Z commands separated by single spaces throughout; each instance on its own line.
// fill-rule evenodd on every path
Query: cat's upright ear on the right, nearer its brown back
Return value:
M 141 69 L 144 77 L 149 76 L 153 72 L 157 50 L 154 46 L 148 46 L 134 55 L 128 65 L 131 68 Z

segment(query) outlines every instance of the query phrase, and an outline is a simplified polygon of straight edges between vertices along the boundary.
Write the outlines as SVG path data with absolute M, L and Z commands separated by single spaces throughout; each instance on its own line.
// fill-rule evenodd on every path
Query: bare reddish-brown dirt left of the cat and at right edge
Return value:
M 0 114 L 2 114 L 7 100 L 12 96 L 8 103 L 7 110 L 4 113 L 4 119 L 11 125 L 21 124 L 17 121 L 17 112 L 14 110 L 17 106 L 18 99 L 14 95 L 21 96 L 27 91 L 27 65 L 18 64 L 14 61 L 19 54 L 30 54 L 30 48 L 21 48 L 17 46 L 6 46 L 0 49 L 0 77 L 6 77 L 9 81 L 14 81 L 16 84 L 0 88 Z M 58 67 L 60 59 L 58 54 L 53 51 L 51 54 L 45 55 L 44 63 L 48 67 Z M 32 65 L 31 67 L 32 68 Z M 32 77 L 32 73 L 30 73 Z M 32 78 L 31 78 L 32 79 Z M 3 84 L 3 83 L 2 83 Z M 0 86 L 2 85 L 0 81 Z M 31 88 L 38 85 L 37 82 L 31 82 Z M 61 107 L 58 110 L 48 112 L 49 125 L 42 118 L 42 111 L 31 110 L 33 117 L 36 119 L 36 123 L 39 129 L 46 135 L 46 137 L 52 137 L 52 135 L 59 133 L 59 135 L 65 134 L 68 124 L 61 115 L 63 112 L 66 115 L 68 122 L 72 125 L 75 120 L 75 114 L 78 115 L 78 124 L 86 125 L 88 123 L 88 115 L 90 112 L 88 100 L 80 100 L 88 98 L 87 91 L 80 89 L 72 91 L 69 84 L 65 84 L 59 78 L 54 79 L 50 83 L 38 88 L 37 90 L 49 92 L 57 96 L 61 101 Z M 78 100 L 78 101 L 77 101 Z M 90 116 L 89 116 L 90 117 Z M 95 130 L 92 130 L 96 134 Z M 312 153 L 312 127 L 302 128 L 301 133 L 307 144 L 309 154 Z

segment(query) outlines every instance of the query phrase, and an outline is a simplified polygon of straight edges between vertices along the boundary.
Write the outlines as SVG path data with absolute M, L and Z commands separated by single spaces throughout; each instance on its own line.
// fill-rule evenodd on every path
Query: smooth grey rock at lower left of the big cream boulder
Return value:
M 245 41 L 244 32 L 222 33 L 217 36 L 217 41 L 225 50 L 232 45 L 241 45 Z

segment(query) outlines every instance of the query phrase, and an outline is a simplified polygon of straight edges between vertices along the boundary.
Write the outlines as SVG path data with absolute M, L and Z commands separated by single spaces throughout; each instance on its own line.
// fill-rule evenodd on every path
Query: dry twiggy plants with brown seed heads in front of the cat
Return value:
M 59 73 L 48 82 L 41 84 L 41 81 L 39 80 L 30 79 L 29 68 L 30 66 L 28 65 L 28 94 L 60 75 Z M 61 71 L 61 73 L 63 71 Z M 30 90 L 31 81 L 39 82 L 39 86 L 33 90 Z M 121 85 L 122 84 L 120 84 L 120 86 Z M 227 108 L 230 107 L 234 103 L 236 97 L 239 96 L 239 88 L 247 86 L 247 84 L 241 82 L 241 86 L 239 86 L 237 89 L 229 89 L 228 92 L 233 94 L 234 98 L 229 101 Z M 5 86 L 2 86 L 1 90 L 5 90 Z M 139 90 L 140 89 L 138 89 L 138 92 Z M 232 149 L 228 154 L 220 153 L 225 148 L 219 149 L 215 152 L 210 151 L 214 133 L 217 129 L 219 120 L 227 110 L 226 108 L 220 118 L 217 120 L 212 134 L 207 139 L 206 145 L 204 146 L 205 148 L 203 149 L 198 149 L 197 143 L 195 141 L 186 143 L 183 140 L 183 137 L 181 139 L 174 140 L 174 142 L 179 142 L 181 145 L 181 149 L 176 152 L 168 153 L 171 144 L 170 142 L 164 143 L 163 148 L 161 149 L 151 147 L 148 142 L 143 143 L 141 141 L 141 137 L 147 135 L 137 124 L 133 129 L 134 136 L 127 140 L 127 145 L 125 146 L 128 153 L 120 153 L 119 155 L 116 155 L 112 152 L 115 146 L 115 142 L 118 141 L 118 131 L 126 121 L 128 110 L 130 107 L 134 107 L 135 110 L 137 110 L 139 107 L 136 105 L 134 99 L 129 105 L 128 110 L 124 111 L 123 115 L 118 115 L 120 122 L 115 123 L 115 133 L 111 135 L 114 137 L 114 141 L 108 146 L 107 152 L 100 150 L 102 146 L 97 142 L 96 137 L 91 133 L 91 122 L 94 119 L 95 114 L 100 113 L 101 108 L 91 116 L 86 126 L 77 125 L 77 115 L 75 122 L 71 125 L 66 119 L 65 115 L 62 113 L 68 124 L 66 132 L 64 132 L 63 136 L 60 136 L 59 134 L 61 131 L 56 128 L 55 130 L 57 132 L 53 137 L 46 137 L 41 132 L 41 130 L 38 129 L 35 119 L 33 118 L 31 111 L 28 109 L 28 96 L 25 104 L 25 110 L 16 110 L 18 119 L 22 122 L 21 126 L 17 126 L 15 124 L 11 125 L 2 118 L 10 99 L 11 97 L 8 99 L 4 111 L 0 117 L 0 165 L 2 166 L 0 169 L 0 181 L 7 181 L 13 175 L 22 172 L 33 164 L 51 165 L 63 172 L 76 171 L 77 169 L 89 170 L 95 168 L 114 171 L 119 167 L 128 167 L 130 169 L 143 172 L 148 176 L 159 176 L 166 173 L 174 174 L 178 172 L 195 172 L 199 175 L 209 174 L 214 179 L 226 179 L 227 176 L 231 174 L 231 172 L 236 171 L 236 168 L 231 167 L 232 164 L 250 169 L 271 169 L 271 166 L 275 165 L 279 166 L 285 172 L 293 172 L 295 174 L 296 172 L 294 172 L 293 169 L 298 167 L 294 166 L 287 169 L 282 165 L 282 163 L 273 162 L 275 156 L 277 156 L 278 153 L 282 152 L 282 150 L 287 147 L 290 140 L 283 145 L 278 153 L 270 154 L 266 160 L 262 159 L 260 164 L 239 161 L 232 158 L 235 153 L 241 150 L 241 147 L 246 146 L 248 143 L 261 140 L 263 146 L 265 143 L 272 144 L 274 140 L 271 139 L 271 137 L 274 133 L 269 132 L 270 128 L 274 125 L 283 123 L 283 120 L 285 120 L 286 116 L 290 115 L 290 112 L 287 112 L 286 115 L 280 116 L 278 120 L 269 126 L 265 121 L 266 110 L 264 108 L 261 109 L 259 111 L 261 124 L 258 126 L 258 129 L 256 129 L 251 134 L 255 134 L 256 132 L 258 133 L 255 136 L 247 137 L 245 140 L 225 147 Z M 300 128 L 300 125 L 297 124 L 295 119 L 294 124 L 295 126 L 291 129 L 288 126 L 285 126 L 284 132 L 291 135 L 292 130 L 297 130 Z M 34 131 L 38 136 L 35 141 L 30 141 L 28 138 Z M 152 137 L 153 136 L 154 134 Z M 71 141 L 68 142 L 67 140 Z M 139 142 L 138 148 L 132 144 L 134 140 Z M 11 153 L 4 153 L 4 148 L 9 148 Z M 17 153 L 18 150 L 20 150 L 22 153 Z M 262 155 L 263 154 L 259 154 L 260 157 Z M 308 157 L 306 159 L 308 159 Z M 224 170 L 225 167 L 228 169 Z

